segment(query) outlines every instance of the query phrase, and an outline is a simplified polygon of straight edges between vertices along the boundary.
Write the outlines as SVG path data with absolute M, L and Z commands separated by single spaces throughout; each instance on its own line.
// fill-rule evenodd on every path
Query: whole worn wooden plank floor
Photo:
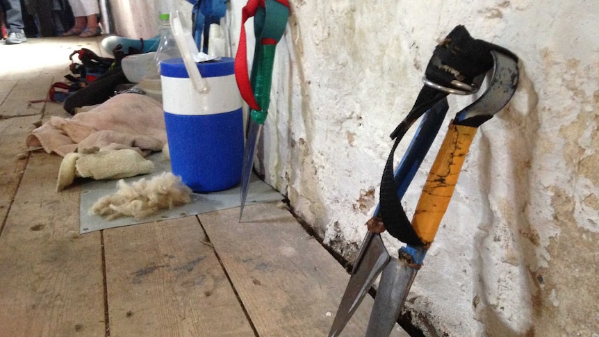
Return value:
M 80 188 L 28 152 L 69 54 L 100 39 L 0 45 L 0 336 L 326 336 L 349 275 L 275 204 L 79 235 Z M 363 336 L 368 297 L 343 336 Z M 393 336 L 407 336 L 399 327 Z

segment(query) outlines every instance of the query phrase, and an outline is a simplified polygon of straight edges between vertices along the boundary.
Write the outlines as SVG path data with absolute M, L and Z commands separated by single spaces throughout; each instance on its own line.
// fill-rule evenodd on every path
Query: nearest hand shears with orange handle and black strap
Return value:
M 371 240 L 368 245 L 365 240 L 329 336 L 340 334 L 359 305 L 361 297 L 366 295 L 368 288 L 381 272 L 381 281 L 366 336 L 389 336 L 411 283 L 416 277 L 416 271 L 422 265 L 422 260 L 445 214 L 477 127 L 501 110 L 516 90 L 517 62 L 516 56 L 507 49 L 470 38 L 463 26 L 454 28 L 436 47 L 423 80 L 425 87 L 422 88 L 406 119 L 392 134 L 395 144 L 381 181 L 381 217 L 371 220 L 380 222 L 384 228 L 369 231 L 367 235 L 367 238 L 377 238 L 378 234 L 386 229 L 391 236 L 408 245 L 402 247 L 399 258 L 391 258 L 380 239 Z M 486 76 L 489 71 L 491 75 Z M 395 183 L 392 180 L 393 152 L 398 142 L 415 117 L 437 104 L 439 97 L 448 94 L 473 94 L 486 77 L 489 77 L 486 91 L 477 101 L 461 110 L 450 124 L 450 130 L 422 192 L 414 220 L 410 223 L 396 192 L 403 187 L 397 186 L 397 179 Z

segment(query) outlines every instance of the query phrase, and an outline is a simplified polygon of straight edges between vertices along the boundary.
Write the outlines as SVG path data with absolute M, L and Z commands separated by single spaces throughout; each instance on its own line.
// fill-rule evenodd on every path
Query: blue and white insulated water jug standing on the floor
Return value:
M 197 63 L 208 87 L 197 92 L 181 58 L 161 62 L 172 172 L 194 192 L 226 190 L 241 179 L 243 113 L 233 63 Z

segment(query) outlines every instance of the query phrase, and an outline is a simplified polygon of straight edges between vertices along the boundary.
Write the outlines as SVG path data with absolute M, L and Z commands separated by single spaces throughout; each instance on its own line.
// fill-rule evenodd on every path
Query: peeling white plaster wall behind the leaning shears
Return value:
M 407 309 L 429 336 L 598 337 L 599 1 L 290 2 L 257 163 L 266 181 L 353 261 L 388 134 L 436 43 L 463 24 L 520 56 L 520 85 L 479 130 Z M 230 2 L 233 51 L 243 5 Z M 450 97 L 450 115 L 466 104 Z

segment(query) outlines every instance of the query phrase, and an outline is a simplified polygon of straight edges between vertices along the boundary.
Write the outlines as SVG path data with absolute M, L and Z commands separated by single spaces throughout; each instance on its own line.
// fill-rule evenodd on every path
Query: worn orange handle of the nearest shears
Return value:
M 454 125 L 453 122 L 450 124 L 425 187 L 422 188 L 412 226 L 427 247 L 433 242 L 441 219 L 447 211 L 461 166 L 476 131 L 477 128 L 472 126 Z

